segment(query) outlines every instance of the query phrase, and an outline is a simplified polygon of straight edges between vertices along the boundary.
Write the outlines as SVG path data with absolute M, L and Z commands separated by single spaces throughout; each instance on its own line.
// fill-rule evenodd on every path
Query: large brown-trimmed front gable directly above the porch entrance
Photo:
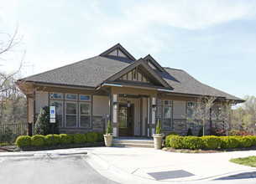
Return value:
M 154 69 L 152 69 L 149 64 L 147 64 L 144 59 L 138 59 L 137 61 L 133 62 L 133 64 L 128 65 L 128 67 L 120 70 L 117 74 L 113 74 L 108 79 L 104 80 L 107 82 L 113 82 L 113 81 L 120 81 L 121 78 L 123 78 L 124 75 L 133 74 L 133 71 L 137 70 L 137 73 L 141 74 L 142 81 L 138 81 L 138 77 L 136 76 L 136 79 L 131 77 L 130 79 L 126 79 L 127 82 L 133 82 L 134 83 L 149 83 L 153 84 L 155 86 L 164 87 L 167 89 L 173 89 L 170 84 L 168 84 L 165 79 L 161 78 L 159 74 L 157 74 Z M 132 72 L 132 73 L 130 73 Z M 128 77 L 128 76 L 127 76 Z M 145 79 L 143 79 L 145 78 Z M 122 79 L 121 79 L 122 80 Z

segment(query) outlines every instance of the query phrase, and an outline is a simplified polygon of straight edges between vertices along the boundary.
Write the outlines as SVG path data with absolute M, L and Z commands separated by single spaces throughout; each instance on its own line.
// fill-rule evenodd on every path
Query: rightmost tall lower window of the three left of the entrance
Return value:
M 80 126 L 91 127 L 91 103 L 80 103 Z

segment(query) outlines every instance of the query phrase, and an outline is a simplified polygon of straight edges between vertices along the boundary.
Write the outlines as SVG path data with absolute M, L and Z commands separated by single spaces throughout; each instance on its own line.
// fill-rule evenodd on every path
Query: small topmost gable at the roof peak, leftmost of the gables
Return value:
M 121 57 L 121 58 L 126 58 L 126 59 L 131 59 L 135 61 L 136 59 L 132 56 L 132 54 L 129 54 L 126 49 L 123 48 L 123 46 L 118 43 L 114 45 L 112 48 L 107 49 L 105 52 L 100 54 L 99 56 L 114 56 L 114 57 Z

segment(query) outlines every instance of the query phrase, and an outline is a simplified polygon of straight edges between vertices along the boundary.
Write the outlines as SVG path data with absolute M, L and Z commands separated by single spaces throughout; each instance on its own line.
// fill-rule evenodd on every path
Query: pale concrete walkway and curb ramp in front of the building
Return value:
M 256 156 L 256 151 L 222 153 L 174 153 L 152 148 L 91 147 L 55 151 L 0 153 L 13 156 L 67 156 L 81 154 L 102 176 L 120 183 L 159 183 L 166 181 L 212 181 L 228 176 L 255 178 L 256 168 L 234 164 L 237 157 Z M 253 179 L 254 180 L 254 179 Z

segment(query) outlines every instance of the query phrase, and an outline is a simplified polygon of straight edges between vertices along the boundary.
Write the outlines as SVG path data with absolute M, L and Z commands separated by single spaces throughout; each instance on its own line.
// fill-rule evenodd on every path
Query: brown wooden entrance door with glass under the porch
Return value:
M 119 105 L 119 136 L 133 136 L 133 105 Z

